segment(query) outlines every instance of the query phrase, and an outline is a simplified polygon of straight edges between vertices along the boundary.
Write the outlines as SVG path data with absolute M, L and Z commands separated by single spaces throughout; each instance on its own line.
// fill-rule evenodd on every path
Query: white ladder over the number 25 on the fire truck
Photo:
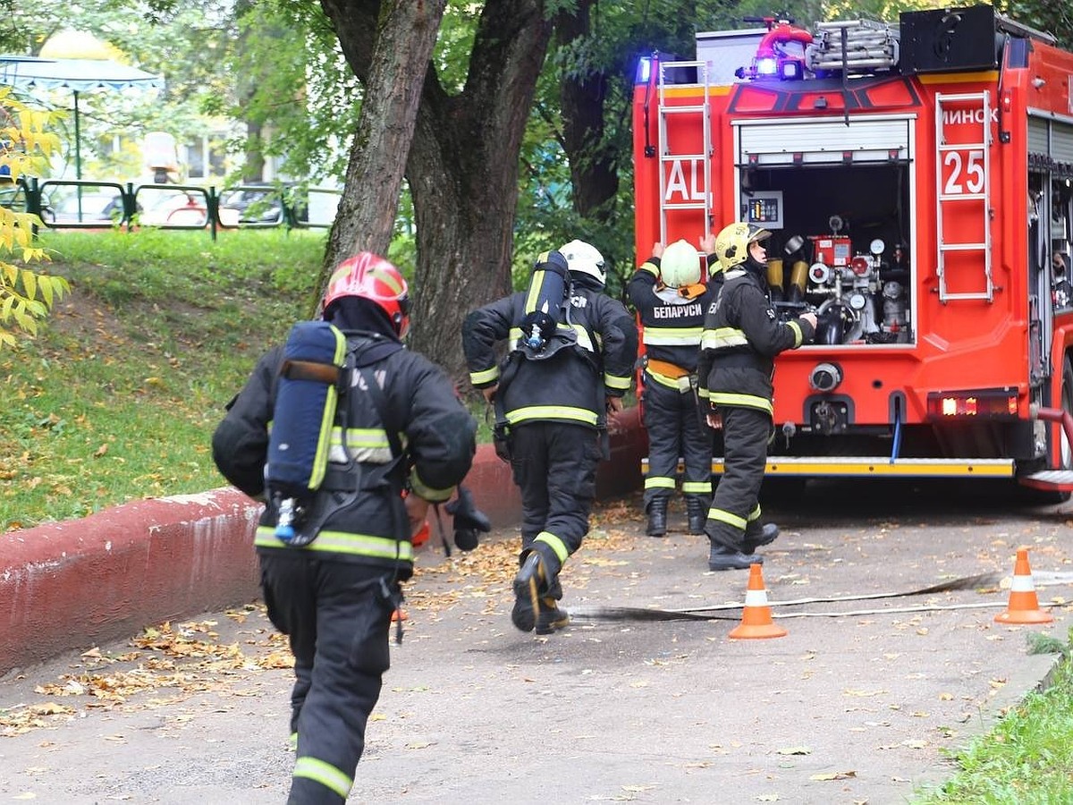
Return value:
M 966 106 L 966 104 L 970 104 Z M 973 105 L 979 104 L 979 105 Z M 981 141 L 978 143 L 947 143 L 943 128 L 945 119 L 944 105 L 956 105 L 959 113 L 968 109 L 972 115 L 981 115 Z M 950 302 L 951 299 L 987 299 L 995 298 L 995 281 L 991 276 L 991 226 L 990 226 L 990 145 L 991 145 L 991 106 L 990 94 L 983 92 L 966 92 L 960 94 L 936 94 L 936 143 L 938 145 L 938 158 L 936 160 L 936 197 L 939 203 L 936 206 L 936 233 L 939 239 L 939 265 L 937 274 L 939 276 L 939 301 Z M 969 192 L 947 192 L 952 189 L 947 187 L 943 178 L 943 169 L 947 158 L 945 155 L 958 151 L 960 153 L 976 155 L 982 152 L 983 176 L 980 176 L 980 189 Z M 966 171 L 966 165 L 961 166 L 961 177 L 967 184 L 972 180 L 973 174 Z M 960 190 L 961 186 L 957 185 Z M 951 243 L 943 233 L 943 214 L 952 210 L 954 205 L 975 203 L 980 205 L 983 217 L 984 239 L 982 243 Z M 951 252 L 979 252 L 984 266 L 984 289 L 981 291 L 952 292 L 946 284 L 946 255 Z

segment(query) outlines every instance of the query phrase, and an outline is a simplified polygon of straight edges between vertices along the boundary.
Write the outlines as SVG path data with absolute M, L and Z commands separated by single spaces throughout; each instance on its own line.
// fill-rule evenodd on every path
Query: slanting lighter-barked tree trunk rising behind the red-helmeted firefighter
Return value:
M 318 288 L 359 251 L 386 254 L 445 0 L 321 0 L 365 92 Z

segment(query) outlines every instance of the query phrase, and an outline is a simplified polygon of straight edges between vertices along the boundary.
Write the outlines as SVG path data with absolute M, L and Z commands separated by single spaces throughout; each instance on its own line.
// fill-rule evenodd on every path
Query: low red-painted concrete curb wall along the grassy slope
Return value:
M 601 498 L 641 486 L 648 442 L 635 408 L 614 419 L 611 442 L 612 459 L 597 475 Z M 518 522 L 517 487 L 490 444 L 477 449 L 466 485 L 495 527 Z M 225 487 L 3 535 L 0 674 L 256 599 L 260 512 L 260 503 Z

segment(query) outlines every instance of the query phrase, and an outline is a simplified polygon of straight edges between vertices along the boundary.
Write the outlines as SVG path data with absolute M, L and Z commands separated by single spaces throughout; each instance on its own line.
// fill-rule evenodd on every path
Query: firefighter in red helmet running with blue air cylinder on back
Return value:
M 267 498 L 254 540 L 262 587 L 268 616 L 294 654 L 297 757 L 288 802 L 318 804 L 350 793 L 388 668 L 399 583 L 413 573 L 411 535 L 430 502 L 446 501 L 466 475 L 476 427 L 446 375 L 402 346 L 408 289 L 394 265 L 369 252 L 343 261 L 322 309 L 322 322 L 295 325 L 285 346 L 261 358 L 212 437 L 222 474 Z M 336 339 L 337 360 L 292 360 L 296 333 L 307 343 Z M 324 395 L 338 395 L 335 415 L 312 418 L 312 452 L 327 457 L 323 478 L 305 495 L 281 485 L 292 496 L 282 498 L 274 448 L 276 431 L 290 427 L 282 409 L 291 402 L 280 387 L 328 376 L 338 378 Z M 284 465 L 303 447 L 291 438 L 279 451 Z M 284 499 L 295 507 L 289 523 L 280 518 Z

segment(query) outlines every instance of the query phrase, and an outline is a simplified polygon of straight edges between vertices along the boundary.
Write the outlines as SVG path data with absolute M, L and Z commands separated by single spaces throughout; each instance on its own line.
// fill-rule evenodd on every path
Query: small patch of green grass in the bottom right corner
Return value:
M 915 805 L 1073 803 L 1073 664 L 1068 645 L 1040 648 L 1064 655 L 1053 685 L 957 751 L 959 771 L 937 790 L 920 792 Z

